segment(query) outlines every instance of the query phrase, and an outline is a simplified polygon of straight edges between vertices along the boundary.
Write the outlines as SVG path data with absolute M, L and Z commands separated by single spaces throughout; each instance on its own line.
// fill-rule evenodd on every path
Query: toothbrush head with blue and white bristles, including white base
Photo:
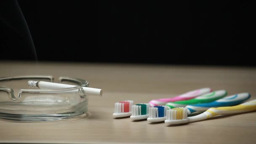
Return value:
M 149 117 L 147 121 L 149 122 L 163 122 L 166 120 L 167 106 L 155 106 L 149 107 Z

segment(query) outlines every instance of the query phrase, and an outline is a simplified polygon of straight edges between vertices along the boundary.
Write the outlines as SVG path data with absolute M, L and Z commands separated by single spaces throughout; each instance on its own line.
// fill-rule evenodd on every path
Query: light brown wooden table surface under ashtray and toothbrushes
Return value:
M 256 112 L 217 117 L 170 127 L 147 120 L 113 119 L 114 103 L 173 97 L 197 88 L 251 93 L 256 99 L 256 69 L 171 65 L 88 64 L 0 61 L 0 77 L 53 75 L 79 77 L 102 97 L 89 96 L 88 116 L 51 122 L 0 120 L 0 142 L 22 143 L 255 143 Z

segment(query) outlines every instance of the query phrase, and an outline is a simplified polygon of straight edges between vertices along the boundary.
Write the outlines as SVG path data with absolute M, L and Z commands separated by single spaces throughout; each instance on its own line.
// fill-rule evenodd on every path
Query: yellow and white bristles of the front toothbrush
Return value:
M 187 107 L 178 107 L 167 110 L 167 120 L 182 120 L 187 118 Z

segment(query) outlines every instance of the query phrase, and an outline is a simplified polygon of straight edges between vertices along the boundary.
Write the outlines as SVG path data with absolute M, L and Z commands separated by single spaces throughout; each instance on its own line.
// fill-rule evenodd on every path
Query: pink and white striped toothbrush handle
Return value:
M 197 89 L 194 91 L 189 91 L 187 93 L 181 94 L 174 98 L 154 99 L 154 100 L 150 101 L 149 104 L 151 105 L 151 107 L 161 106 L 161 105 L 167 104 L 168 102 L 184 101 L 184 100 L 188 100 L 188 99 L 193 99 L 197 96 L 200 96 L 205 93 L 209 93 L 211 91 L 212 91 L 211 88 L 201 88 L 201 89 Z

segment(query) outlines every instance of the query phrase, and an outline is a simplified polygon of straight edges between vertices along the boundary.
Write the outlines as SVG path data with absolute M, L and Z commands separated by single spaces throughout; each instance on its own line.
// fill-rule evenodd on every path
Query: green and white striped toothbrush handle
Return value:
M 189 104 L 201 104 L 201 103 L 208 103 L 211 101 L 216 101 L 217 99 L 221 99 L 226 95 L 227 95 L 226 90 L 213 91 L 211 93 L 206 93 L 202 96 L 198 96 L 194 99 L 189 99 L 187 101 L 169 102 L 165 106 L 168 106 L 169 109 L 172 109 L 175 107 L 186 107 Z

